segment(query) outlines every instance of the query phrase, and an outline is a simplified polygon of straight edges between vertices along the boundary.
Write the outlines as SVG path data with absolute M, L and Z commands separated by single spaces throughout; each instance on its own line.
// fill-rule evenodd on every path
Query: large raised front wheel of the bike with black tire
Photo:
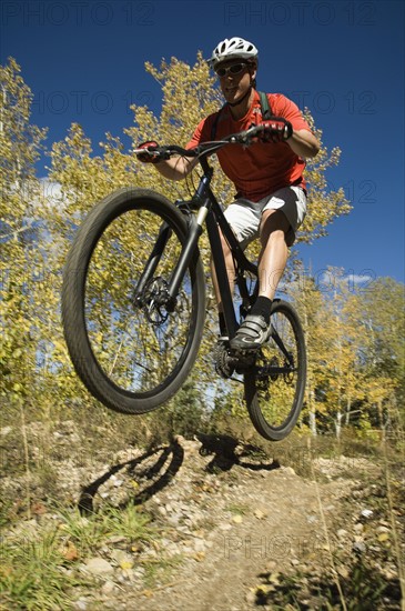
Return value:
M 75 371 L 108 408 L 153 410 L 193 367 L 205 315 L 199 252 L 175 302 L 168 287 L 186 240 L 184 216 L 148 189 L 121 189 L 90 212 L 68 256 L 62 321 Z

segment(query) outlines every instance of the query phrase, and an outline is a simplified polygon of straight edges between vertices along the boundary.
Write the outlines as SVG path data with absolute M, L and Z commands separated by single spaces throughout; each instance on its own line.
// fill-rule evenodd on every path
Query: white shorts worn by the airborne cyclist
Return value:
M 306 216 L 306 193 L 302 187 L 291 186 L 256 202 L 240 198 L 231 203 L 224 214 L 243 248 L 259 237 L 264 210 L 281 210 L 286 216 L 290 230 L 285 241 L 291 247 L 295 241 L 295 232 Z

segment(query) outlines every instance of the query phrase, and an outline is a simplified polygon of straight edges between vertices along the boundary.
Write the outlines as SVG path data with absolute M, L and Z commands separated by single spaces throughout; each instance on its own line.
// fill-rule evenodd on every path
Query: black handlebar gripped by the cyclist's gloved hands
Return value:
M 244 131 L 240 131 L 237 133 L 231 133 L 230 136 L 226 136 L 226 138 L 223 138 L 222 140 L 213 140 L 203 142 L 202 144 L 199 144 L 198 147 L 194 147 L 193 149 L 183 149 L 182 147 L 178 147 L 176 144 L 168 144 L 163 147 L 148 147 L 142 149 L 134 149 L 135 154 L 150 154 L 150 156 L 158 156 L 161 160 L 163 159 L 170 159 L 174 154 L 180 154 L 181 157 L 193 157 L 201 159 L 203 157 L 207 157 L 212 154 L 213 152 L 217 151 L 222 147 L 225 147 L 226 144 L 244 144 L 245 147 L 249 147 L 253 139 L 261 132 L 266 131 L 265 124 L 259 124 L 253 126 L 252 128 L 249 128 Z

